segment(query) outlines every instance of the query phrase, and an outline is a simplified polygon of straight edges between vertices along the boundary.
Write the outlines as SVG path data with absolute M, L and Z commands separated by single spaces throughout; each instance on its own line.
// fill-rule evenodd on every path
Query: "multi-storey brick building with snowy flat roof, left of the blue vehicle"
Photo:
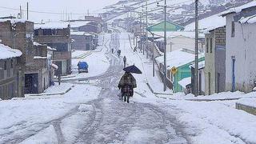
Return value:
M 71 73 L 70 25 L 67 22 L 48 22 L 34 27 L 36 42 L 46 44 L 54 51 L 54 64 L 58 66 L 56 75 Z

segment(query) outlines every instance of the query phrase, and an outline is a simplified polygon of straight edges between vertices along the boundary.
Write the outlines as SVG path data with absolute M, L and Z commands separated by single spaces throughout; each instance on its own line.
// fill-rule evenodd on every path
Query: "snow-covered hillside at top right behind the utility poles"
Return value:
M 241 6 L 252 0 L 199 0 L 199 17 L 207 18 L 218 14 L 232 6 Z M 162 9 L 157 6 L 163 4 L 163 0 L 148 0 L 148 18 L 150 21 L 161 22 L 163 20 Z M 105 20 L 114 18 L 137 17 L 134 11 L 146 11 L 145 0 L 120 0 L 111 6 L 106 6 L 104 10 L 108 13 Z M 169 21 L 177 22 L 186 26 L 194 22 L 194 1 L 192 0 L 167 0 Z

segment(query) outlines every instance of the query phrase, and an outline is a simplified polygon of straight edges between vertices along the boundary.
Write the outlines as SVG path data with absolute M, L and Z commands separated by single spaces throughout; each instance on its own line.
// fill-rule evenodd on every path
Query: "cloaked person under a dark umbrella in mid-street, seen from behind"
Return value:
M 136 79 L 131 73 L 135 74 L 142 74 L 142 71 L 138 69 L 136 66 L 127 66 L 123 69 L 125 71 L 125 74 L 122 75 L 122 78 L 120 79 L 118 83 L 119 90 L 121 89 L 122 98 L 124 98 L 124 101 L 129 103 L 129 98 L 134 95 L 134 88 L 137 87 Z

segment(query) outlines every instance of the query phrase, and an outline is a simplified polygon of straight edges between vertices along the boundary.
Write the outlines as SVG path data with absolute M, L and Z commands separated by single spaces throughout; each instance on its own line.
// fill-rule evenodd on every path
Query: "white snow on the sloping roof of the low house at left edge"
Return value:
M 20 50 L 11 49 L 9 46 L 0 43 L 0 59 L 20 57 L 22 52 Z

